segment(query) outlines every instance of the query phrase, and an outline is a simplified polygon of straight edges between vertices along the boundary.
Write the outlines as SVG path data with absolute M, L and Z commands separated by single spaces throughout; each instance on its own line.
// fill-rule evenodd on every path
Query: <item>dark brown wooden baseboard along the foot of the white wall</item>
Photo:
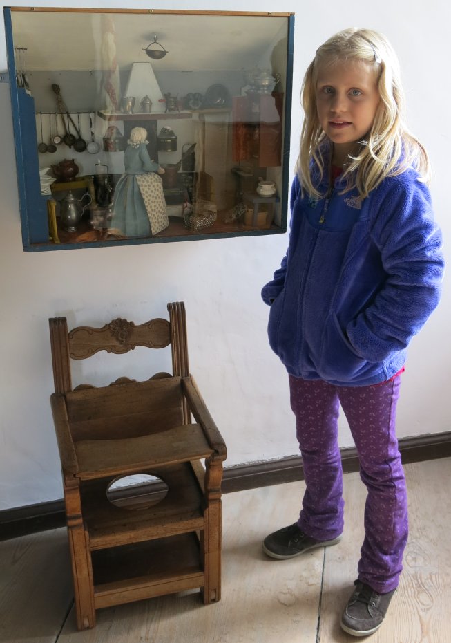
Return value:
M 435 460 L 451 456 L 451 431 L 439 434 L 401 438 L 399 451 L 404 464 Z M 358 471 L 358 456 L 355 447 L 341 449 L 343 472 Z M 303 461 L 300 456 L 278 460 L 233 465 L 224 469 L 222 492 L 231 492 L 267 487 L 303 480 Z M 0 512 L 0 540 L 6 540 L 46 531 L 66 524 L 64 501 L 55 500 L 38 505 L 27 505 Z

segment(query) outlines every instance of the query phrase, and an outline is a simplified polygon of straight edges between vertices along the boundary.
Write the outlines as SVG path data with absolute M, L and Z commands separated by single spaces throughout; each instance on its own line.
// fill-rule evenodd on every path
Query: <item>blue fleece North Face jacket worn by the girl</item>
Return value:
M 401 369 L 439 303 L 442 241 L 413 169 L 363 200 L 343 187 L 338 177 L 316 200 L 294 179 L 289 247 L 262 298 L 269 344 L 291 375 L 365 386 Z

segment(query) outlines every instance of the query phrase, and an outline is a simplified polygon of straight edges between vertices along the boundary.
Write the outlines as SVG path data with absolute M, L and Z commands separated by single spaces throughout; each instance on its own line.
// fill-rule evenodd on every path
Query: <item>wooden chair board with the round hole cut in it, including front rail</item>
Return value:
M 124 509 L 106 498 L 107 480 L 82 483 L 81 503 L 90 548 L 99 550 L 202 529 L 202 492 L 190 463 L 155 467 L 151 474 L 169 487 L 166 497 L 147 509 Z

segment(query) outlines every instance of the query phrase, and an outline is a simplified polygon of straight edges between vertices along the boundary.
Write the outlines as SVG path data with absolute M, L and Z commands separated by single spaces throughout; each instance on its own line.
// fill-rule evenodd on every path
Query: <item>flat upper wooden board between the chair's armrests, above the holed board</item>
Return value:
M 93 480 L 137 473 L 153 465 L 189 462 L 213 453 L 198 424 L 182 425 L 160 434 L 117 440 L 75 442 L 77 478 Z

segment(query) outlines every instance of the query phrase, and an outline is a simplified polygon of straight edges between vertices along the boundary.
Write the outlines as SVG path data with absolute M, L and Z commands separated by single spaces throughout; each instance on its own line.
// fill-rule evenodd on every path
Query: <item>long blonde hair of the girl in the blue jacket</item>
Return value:
M 399 62 L 392 46 L 376 31 L 345 29 L 318 48 L 303 80 L 304 122 L 296 171 L 305 192 L 323 196 L 318 192 L 318 185 L 313 184 L 311 171 L 316 166 L 323 178 L 329 170 L 325 168 L 325 158 L 329 159 L 328 152 L 332 151 L 316 109 L 318 69 L 344 60 L 363 61 L 372 68 L 381 97 L 372 128 L 361 140 L 356 156 L 349 157 L 349 165 L 343 173 L 347 180 L 345 191 L 356 187 L 365 198 L 386 176 L 401 174 L 410 166 L 415 167 L 421 179 L 427 182 L 430 178 L 428 154 L 404 124 L 404 94 Z

